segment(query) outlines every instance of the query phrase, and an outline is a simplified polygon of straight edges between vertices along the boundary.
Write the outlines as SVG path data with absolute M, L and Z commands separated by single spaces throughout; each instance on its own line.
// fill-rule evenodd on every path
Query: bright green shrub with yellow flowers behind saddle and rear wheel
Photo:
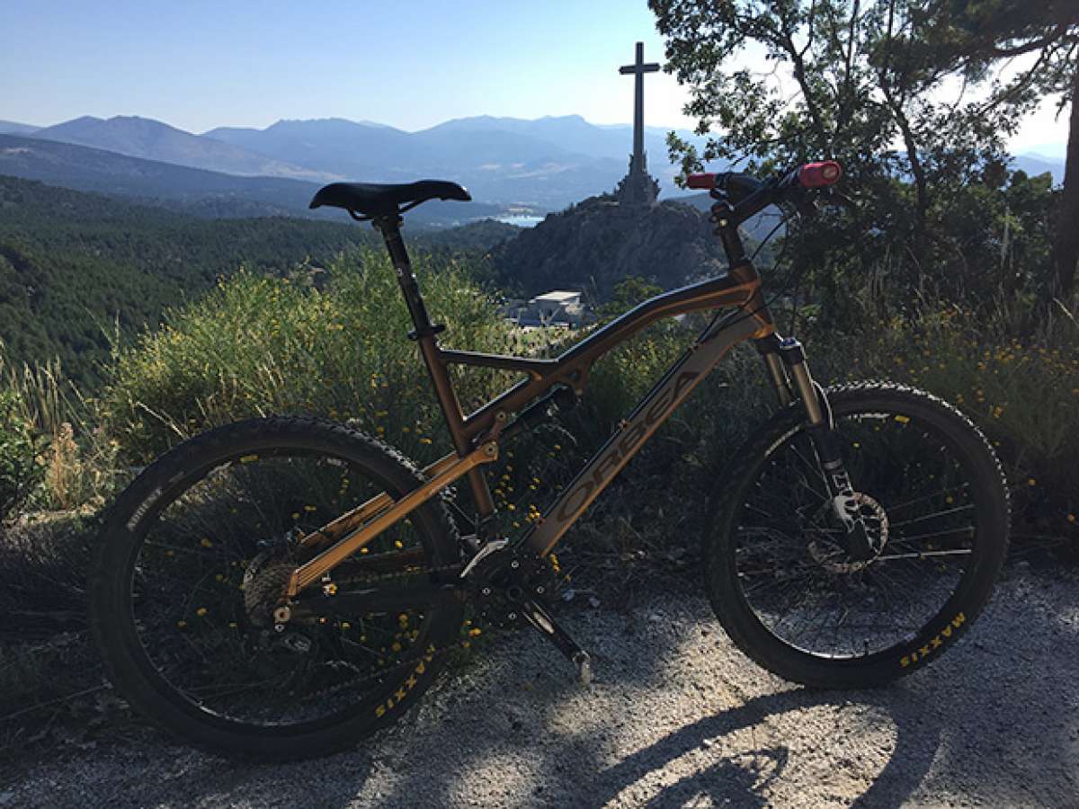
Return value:
M 453 261 L 416 273 L 449 343 L 515 351 L 510 327 Z M 384 255 L 357 250 L 322 289 L 241 272 L 122 352 L 103 396 L 109 431 L 142 462 L 207 427 L 269 413 L 355 420 L 420 461 L 449 450 L 441 413 Z M 454 371 L 466 410 L 510 381 Z

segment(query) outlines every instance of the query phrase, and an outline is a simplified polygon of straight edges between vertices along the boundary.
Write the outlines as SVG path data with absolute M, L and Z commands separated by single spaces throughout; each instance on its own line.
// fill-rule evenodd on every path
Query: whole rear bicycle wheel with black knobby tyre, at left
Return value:
M 258 758 L 322 755 L 397 718 L 455 645 L 460 604 L 406 600 L 284 631 L 272 614 L 311 554 L 297 537 L 421 482 L 378 441 L 297 419 L 229 425 L 164 455 L 118 501 L 96 559 L 91 626 L 118 689 L 191 742 Z M 404 588 L 457 559 L 436 499 L 334 568 L 324 592 Z

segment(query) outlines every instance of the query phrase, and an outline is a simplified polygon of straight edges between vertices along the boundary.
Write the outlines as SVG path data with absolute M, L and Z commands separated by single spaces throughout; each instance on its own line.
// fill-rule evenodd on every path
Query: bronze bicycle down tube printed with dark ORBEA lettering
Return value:
M 732 318 L 734 318 L 732 320 Z M 726 324 L 726 325 L 724 325 Z M 607 488 L 653 433 L 734 345 L 754 337 L 761 323 L 735 313 L 682 356 L 619 425 L 522 543 L 546 556 L 570 525 Z

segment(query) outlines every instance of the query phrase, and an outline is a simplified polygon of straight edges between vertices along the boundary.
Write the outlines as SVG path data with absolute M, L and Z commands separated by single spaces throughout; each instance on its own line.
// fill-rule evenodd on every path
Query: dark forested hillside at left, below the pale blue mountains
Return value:
M 486 249 L 516 232 L 480 222 L 410 244 Z M 352 223 L 208 220 L 0 176 L 0 340 L 16 362 L 59 357 L 95 382 L 114 325 L 122 334 L 153 326 L 241 265 L 284 274 L 365 244 L 377 234 Z

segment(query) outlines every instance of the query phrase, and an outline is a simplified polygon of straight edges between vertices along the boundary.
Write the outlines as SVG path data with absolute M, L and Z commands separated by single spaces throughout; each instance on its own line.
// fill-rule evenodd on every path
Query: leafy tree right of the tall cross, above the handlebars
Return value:
M 691 88 L 686 111 L 698 134 L 713 133 L 700 153 L 672 137 L 672 153 L 687 169 L 723 159 L 754 173 L 838 160 L 862 197 L 861 218 L 815 224 L 823 235 L 801 238 L 798 260 L 810 269 L 846 262 L 878 278 L 878 289 L 901 288 L 901 302 L 973 288 L 973 276 L 997 263 L 986 246 L 999 241 L 1001 222 L 987 219 L 982 238 L 960 239 L 956 205 L 976 204 L 969 187 L 1003 193 L 1006 139 L 1038 96 L 973 97 L 988 65 L 954 51 L 945 58 L 933 5 L 650 0 L 667 69 Z M 818 282 L 842 293 L 836 278 Z

